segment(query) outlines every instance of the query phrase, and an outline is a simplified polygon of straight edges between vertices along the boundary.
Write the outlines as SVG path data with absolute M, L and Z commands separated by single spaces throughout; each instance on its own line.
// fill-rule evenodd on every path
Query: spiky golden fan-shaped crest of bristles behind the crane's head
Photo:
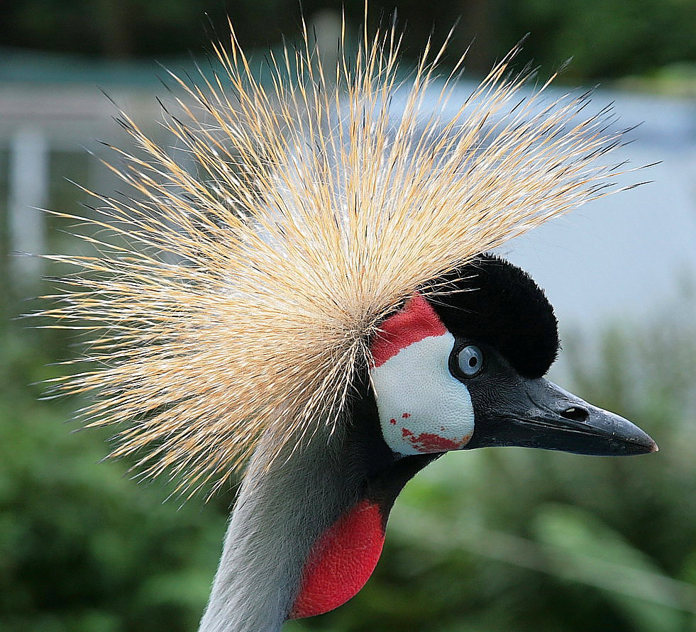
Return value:
M 182 115 L 164 124 L 195 169 L 121 113 L 139 149 L 111 169 L 137 194 L 89 192 L 98 253 L 50 257 L 79 273 L 42 315 L 92 331 L 76 362 L 96 366 L 56 388 L 98 394 L 87 426 L 119 424 L 112 455 L 138 455 L 142 475 L 216 489 L 261 433 L 280 450 L 334 428 L 370 337 L 414 289 L 612 189 L 608 111 L 580 116 L 587 94 L 548 103 L 548 82 L 521 95 L 517 49 L 445 117 L 463 58 L 438 79 L 428 45 L 406 80 L 394 27 L 365 31 L 352 60 L 343 32 L 330 72 L 305 28 L 270 56 L 270 82 L 233 31 L 213 79 L 170 73 Z

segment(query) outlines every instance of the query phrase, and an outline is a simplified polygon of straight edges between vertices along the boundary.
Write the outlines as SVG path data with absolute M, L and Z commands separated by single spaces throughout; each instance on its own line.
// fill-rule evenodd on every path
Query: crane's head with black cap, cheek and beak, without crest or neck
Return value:
M 518 267 L 483 255 L 382 323 L 370 379 L 397 455 L 518 445 L 590 455 L 654 452 L 626 419 L 543 378 L 558 353 L 553 308 Z

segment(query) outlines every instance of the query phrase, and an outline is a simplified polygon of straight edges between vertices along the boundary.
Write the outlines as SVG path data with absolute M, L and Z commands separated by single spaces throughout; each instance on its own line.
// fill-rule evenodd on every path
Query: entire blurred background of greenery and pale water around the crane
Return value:
M 304 1 L 336 38 L 341 3 Z M 696 3 L 693 0 L 371 2 L 398 7 L 408 63 L 458 21 L 473 42 L 461 86 L 525 33 L 519 65 L 559 91 L 600 84 L 631 167 L 611 196 L 511 243 L 546 287 L 564 353 L 552 379 L 639 423 L 661 451 L 611 460 L 522 449 L 452 454 L 409 483 L 385 553 L 357 597 L 288 631 L 696 630 Z M 363 2 L 346 0 L 357 32 Z M 165 67 L 193 70 L 211 38 L 263 58 L 297 37 L 295 0 L 6 0 L 0 5 L 0 630 L 187 631 L 204 607 L 234 487 L 208 504 L 136 484 L 99 461 L 108 433 L 72 433 L 79 398 L 42 400 L 78 353 L 64 332 L 18 319 L 52 291 L 47 262 L 74 252 L 85 212 L 67 179 L 109 193 L 98 140 L 126 144 L 118 106 L 157 136 Z M 161 136 L 158 138 L 162 138 Z M 166 142 L 166 138 L 162 138 Z M 89 152 L 92 152 L 89 153 Z M 93 155 L 94 154 L 94 155 Z M 89 211 L 87 211 L 89 212 Z

